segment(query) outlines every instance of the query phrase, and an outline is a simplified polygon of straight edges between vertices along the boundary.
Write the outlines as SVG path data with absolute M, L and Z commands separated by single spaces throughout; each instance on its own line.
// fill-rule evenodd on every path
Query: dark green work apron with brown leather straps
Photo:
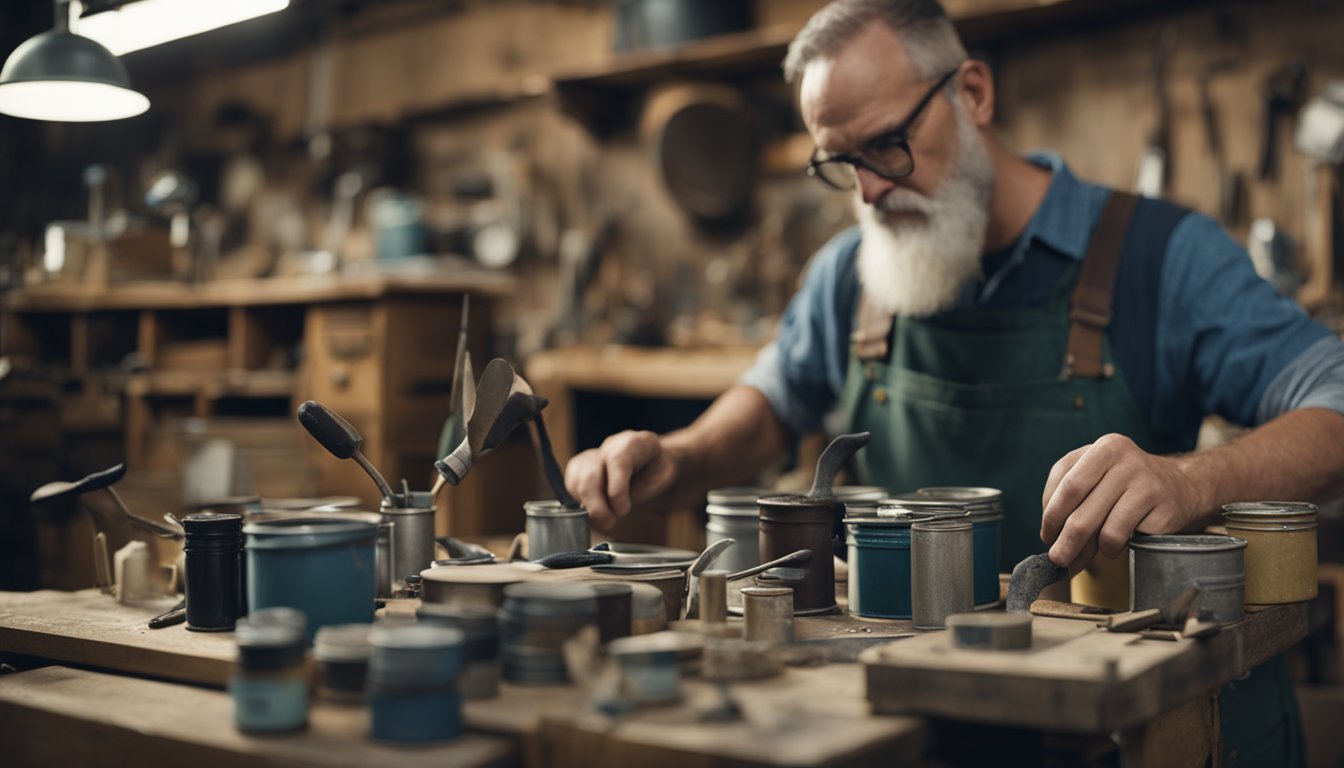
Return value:
M 1128 213 L 1122 215 L 1121 241 L 1129 221 Z M 1103 223 L 1094 235 L 1117 231 Z M 1094 242 L 1089 258 L 1106 249 L 1111 261 L 1130 256 L 1116 242 Z M 1044 551 L 1042 492 L 1050 468 L 1070 451 L 1111 432 L 1152 453 L 1192 448 L 1153 436 L 1125 378 L 1117 375 L 1105 334 L 1099 338 L 1103 373 L 1067 375 L 1066 355 L 1075 348 L 1070 342 L 1070 300 L 1077 300 L 1079 273 L 1077 265 L 1066 270 L 1046 309 L 884 319 L 890 328 L 886 344 L 879 344 L 884 359 L 862 354 L 859 344 L 849 355 L 841 404 L 852 430 L 872 433 L 857 457 L 860 482 L 892 492 L 925 486 L 1000 488 L 1003 572 Z M 1105 285 L 1107 313 L 1113 272 L 1110 277 Z M 859 332 L 867 311 L 856 321 Z M 1302 763 L 1300 718 L 1286 668 L 1282 658 L 1274 659 L 1246 681 L 1223 687 L 1224 765 Z M 1255 695 L 1232 695 L 1247 689 Z

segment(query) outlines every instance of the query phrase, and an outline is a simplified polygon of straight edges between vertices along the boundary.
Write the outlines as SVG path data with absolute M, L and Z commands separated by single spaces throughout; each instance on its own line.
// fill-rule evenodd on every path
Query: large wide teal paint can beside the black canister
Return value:
M 308 617 L 308 642 L 331 624 L 374 620 L 378 525 L 341 516 L 274 518 L 243 526 L 247 603 Z

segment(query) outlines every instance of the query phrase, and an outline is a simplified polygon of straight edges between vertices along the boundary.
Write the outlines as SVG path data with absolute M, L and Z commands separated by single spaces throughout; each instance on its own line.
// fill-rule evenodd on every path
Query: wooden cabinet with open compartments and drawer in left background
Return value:
M 0 354 L 16 369 L 56 371 L 70 391 L 110 387 L 133 472 L 180 471 L 180 452 L 164 440 L 176 417 L 258 420 L 267 434 L 292 425 L 302 445 L 302 467 L 267 472 L 310 476 L 313 494 L 376 508 L 370 479 L 304 434 L 296 408 L 325 404 L 363 434 L 364 455 L 390 483 L 425 490 L 449 410 L 462 296 L 473 297 L 468 344 L 484 363 L 495 300 L 511 289 L 495 273 L 34 286 L 0 304 Z

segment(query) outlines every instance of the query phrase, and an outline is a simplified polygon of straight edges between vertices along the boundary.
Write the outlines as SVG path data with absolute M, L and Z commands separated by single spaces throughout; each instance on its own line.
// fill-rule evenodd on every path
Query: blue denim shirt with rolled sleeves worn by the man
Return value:
M 1003 266 L 968 285 L 958 309 L 1042 308 L 1064 264 L 1051 260 L 1086 254 L 1110 190 L 1078 180 L 1056 155 L 1030 159 L 1054 172 L 1050 190 Z M 816 430 L 844 389 L 859 239 L 851 227 L 817 252 L 775 342 L 739 382 L 758 389 L 798 434 Z M 1121 375 L 1154 434 L 1198 425 L 1208 413 L 1246 426 L 1297 408 L 1344 413 L 1344 343 L 1261 280 L 1215 221 L 1198 213 L 1180 219 L 1156 285 L 1156 303 L 1117 292 L 1107 328 Z M 1124 323 L 1134 315 L 1126 303 L 1157 307 L 1152 340 L 1137 340 Z

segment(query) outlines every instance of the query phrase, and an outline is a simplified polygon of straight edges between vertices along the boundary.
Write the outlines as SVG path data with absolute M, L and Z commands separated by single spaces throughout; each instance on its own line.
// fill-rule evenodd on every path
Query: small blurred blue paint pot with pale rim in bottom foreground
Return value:
M 374 738 L 442 741 L 462 732 L 457 674 L 462 632 L 446 627 L 378 627 L 370 632 L 368 709 Z

